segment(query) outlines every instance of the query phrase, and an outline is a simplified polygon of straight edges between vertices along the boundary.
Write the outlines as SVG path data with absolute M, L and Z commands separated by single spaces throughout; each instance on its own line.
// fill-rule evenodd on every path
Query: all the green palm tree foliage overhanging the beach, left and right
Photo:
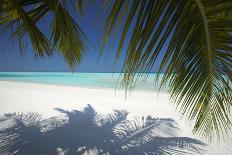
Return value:
M 1 0 L 1 31 L 16 26 L 12 35 L 18 38 L 22 51 L 23 37 L 27 34 L 36 55 L 51 55 L 56 49 L 74 67 L 85 49 L 85 36 L 67 6 L 75 4 L 81 12 L 83 2 Z M 181 114 L 194 122 L 194 133 L 209 140 L 223 136 L 231 125 L 232 2 L 104 0 L 102 3 L 109 14 L 102 30 L 101 51 L 114 37 L 120 37 L 115 63 L 125 48 L 122 70 L 125 89 L 133 88 L 138 79 L 146 79 L 161 59 L 154 78 L 161 79 L 161 87 L 169 86 L 171 100 Z M 32 9 L 25 11 L 28 6 Z M 50 40 L 36 26 L 48 13 L 53 14 Z M 125 44 L 126 39 L 129 44 Z

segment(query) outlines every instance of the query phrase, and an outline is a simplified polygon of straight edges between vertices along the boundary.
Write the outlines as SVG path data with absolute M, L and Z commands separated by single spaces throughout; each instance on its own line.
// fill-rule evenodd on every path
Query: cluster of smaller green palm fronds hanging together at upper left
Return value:
M 56 50 L 71 68 L 80 63 L 86 50 L 86 37 L 68 12 L 72 1 L 3 0 L 1 4 L 0 33 L 13 28 L 11 34 L 19 41 L 21 52 L 25 51 L 25 36 L 28 35 L 36 56 L 50 56 Z M 46 25 L 48 29 L 51 25 L 50 41 L 49 34 L 45 35 L 36 24 L 51 13 L 52 22 Z

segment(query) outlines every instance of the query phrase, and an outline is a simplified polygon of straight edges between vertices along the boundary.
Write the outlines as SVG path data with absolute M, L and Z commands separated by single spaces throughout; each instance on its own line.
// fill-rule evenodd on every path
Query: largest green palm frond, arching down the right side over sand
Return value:
M 103 48 L 126 2 L 112 2 Z M 116 53 L 121 55 L 129 38 L 122 81 L 126 89 L 133 88 L 137 79 L 146 79 L 135 73 L 149 73 L 164 53 L 157 80 L 161 79 L 161 86 L 169 85 L 171 99 L 195 122 L 193 131 L 209 140 L 226 133 L 231 124 L 231 6 L 229 0 L 130 1 Z

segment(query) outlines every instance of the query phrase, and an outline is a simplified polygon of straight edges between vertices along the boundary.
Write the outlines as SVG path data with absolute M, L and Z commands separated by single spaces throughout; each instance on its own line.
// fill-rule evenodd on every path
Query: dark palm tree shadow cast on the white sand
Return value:
M 177 124 L 151 116 L 128 120 L 128 112 L 103 115 L 87 105 L 83 111 L 55 109 L 43 119 L 37 113 L 11 113 L 0 118 L 0 154 L 199 154 L 199 140 L 178 137 Z

